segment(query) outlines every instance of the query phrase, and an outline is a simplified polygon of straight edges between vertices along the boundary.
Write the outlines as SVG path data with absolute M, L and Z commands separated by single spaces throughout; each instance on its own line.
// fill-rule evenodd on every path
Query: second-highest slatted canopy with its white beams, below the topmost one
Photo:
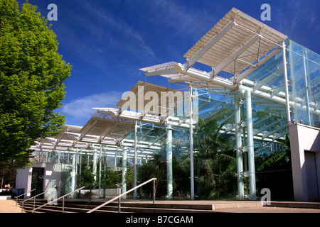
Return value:
M 188 118 L 183 121 L 182 118 L 176 119 L 172 116 L 177 109 L 183 106 L 183 103 L 188 104 L 188 99 L 188 92 L 139 81 L 116 104 L 119 109 L 105 107 L 94 109 L 97 109 L 97 114 L 114 118 L 189 127 Z

